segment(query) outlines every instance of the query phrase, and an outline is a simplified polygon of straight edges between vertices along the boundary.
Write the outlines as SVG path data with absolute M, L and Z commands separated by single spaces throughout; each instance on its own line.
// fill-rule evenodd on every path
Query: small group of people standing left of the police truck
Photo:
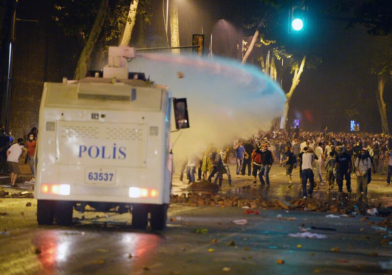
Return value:
M 35 178 L 34 154 L 37 146 L 38 129 L 33 127 L 25 138 L 17 140 L 12 136 L 12 132 L 6 133 L 5 126 L 0 125 L 0 174 L 10 176 L 10 185 L 18 186 L 16 180 L 21 174 L 19 161 L 25 157 L 25 164 L 30 165 L 32 181 Z

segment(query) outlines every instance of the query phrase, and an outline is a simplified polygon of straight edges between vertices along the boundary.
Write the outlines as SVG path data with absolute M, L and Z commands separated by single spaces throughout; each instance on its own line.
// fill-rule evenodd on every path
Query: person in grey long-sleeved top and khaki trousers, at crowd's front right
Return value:
M 355 160 L 358 203 L 362 203 L 362 201 L 368 202 L 368 171 L 371 168 L 371 161 L 365 151 L 361 150 L 359 157 Z

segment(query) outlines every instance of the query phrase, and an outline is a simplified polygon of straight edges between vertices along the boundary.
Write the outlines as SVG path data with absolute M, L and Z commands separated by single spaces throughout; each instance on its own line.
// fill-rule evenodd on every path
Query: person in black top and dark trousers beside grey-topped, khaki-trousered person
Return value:
M 350 155 L 344 152 L 343 146 L 338 147 L 338 156 L 335 163 L 336 182 L 339 186 L 339 193 L 343 192 L 343 178 L 346 180 L 347 192 L 351 193 L 351 168 L 352 161 Z

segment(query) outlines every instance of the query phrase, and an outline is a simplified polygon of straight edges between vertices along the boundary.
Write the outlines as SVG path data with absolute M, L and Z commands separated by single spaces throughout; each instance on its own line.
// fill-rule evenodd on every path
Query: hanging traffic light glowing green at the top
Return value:
M 307 18 L 306 0 L 296 1 L 289 9 L 289 33 L 306 33 Z

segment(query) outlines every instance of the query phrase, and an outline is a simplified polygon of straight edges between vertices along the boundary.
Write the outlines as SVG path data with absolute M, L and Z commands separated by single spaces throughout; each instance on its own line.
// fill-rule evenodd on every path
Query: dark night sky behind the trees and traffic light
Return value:
M 226 56 L 234 54 L 233 52 L 227 53 L 228 49 L 232 49 L 236 41 L 241 44 L 241 37 L 253 35 L 254 29 L 243 28 L 243 23 L 249 16 L 249 10 L 254 14 L 262 6 L 259 1 L 245 0 L 178 1 L 181 46 L 191 45 L 192 34 L 200 33 L 203 29 L 206 53 L 208 53 L 210 35 L 213 32 L 214 53 Z M 64 75 L 72 78 L 72 68 L 75 67 L 77 56 L 81 50 L 80 41 L 75 37 L 65 37 L 61 29 L 51 19 L 50 10 L 54 2 L 56 1 L 19 1 L 18 17 L 34 17 L 40 20 L 40 23 L 36 25 L 18 23 L 17 29 L 14 71 L 15 96 L 12 108 L 14 108 L 14 115 L 26 116 L 27 122 L 23 125 L 24 128 L 31 128 L 38 123 L 37 112 L 43 82 L 59 82 Z M 146 26 L 146 46 L 167 46 L 163 26 L 162 1 L 151 0 L 151 3 L 153 16 L 151 25 Z M 369 66 L 373 53 L 380 50 L 377 49 L 377 45 L 382 38 L 368 35 L 366 28 L 362 25 L 354 24 L 352 28 L 345 30 L 347 23 L 320 17 L 320 10 L 324 10 L 330 3 L 331 1 L 309 1 L 309 10 L 312 15 L 309 17 L 306 35 L 295 36 L 287 33 L 288 11 L 286 9 L 280 10 L 275 19 L 283 26 L 278 31 L 281 31 L 280 36 L 287 48 L 292 46 L 311 48 L 322 60 L 316 69 L 305 68 L 291 101 L 289 119 L 300 118 L 301 127 L 308 130 L 321 130 L 328 126 L 333 131 L 347 132 L 349 131 L 349 118 L 344 116 L 344 110 L 357 108 L 357 110 L 362 110 L 355 118 L 361 122 L 362 130 L 380 132 L 380 115 L 375 99 L 377 78 L 370 74 Z M 5 38 L 9 30 L 4 29 L 8 25 L 6 20 L 9 19 L 9 15 L 7 16 L 4 17 L 5 24 L 2 28 L 2 36 Z M 139 23 L 136 22 L 135 29 Z M 223 24 L 226 25 L 226 28 L 222 28 Z M 137 32 L 134 34 L 137 35 Z M 132 41 L 134 42 L 135 39 L 134 37 Z M 4 75 L 6 73 L 4 41 L 6 40 L 2 41 L 1 104 L 4 106 Z M 59 45 L 62 46 L 59 47 Z M 61 50 L 61 52 L 57 50 Z M 256 49 L 248 62 L 259 65 L 257 54 L 265 55 L 267 50 L 266 46 Z M 383 50 L 391 50 L 391 47 L 384 47 Z M 26 78 L 28 73 L 31 77 Z M 290 88 L 291 80 L 292 76 L 286 73 L 283 77 L 283 89 L 286 92 Z M 30 82 L 30 85 L 26 82 Z M 389 117 L 392 115 L 391 83 L 387 83 L 384 92 Z M 361 96 L 358 95 L 360 91 L 363 91 Z M 31 103 L 33 107 L 15 108 L 22 104 L 21 102 L 31 98 L 33 99 Z M 331 112 L 338 115 L 332 117 Z M 16 120 L 13 123 L 13 128 L 19 127 L 19 124 L 16 125 Z M 24 133 L 25 130 L 21 130 L 21 132 Z

